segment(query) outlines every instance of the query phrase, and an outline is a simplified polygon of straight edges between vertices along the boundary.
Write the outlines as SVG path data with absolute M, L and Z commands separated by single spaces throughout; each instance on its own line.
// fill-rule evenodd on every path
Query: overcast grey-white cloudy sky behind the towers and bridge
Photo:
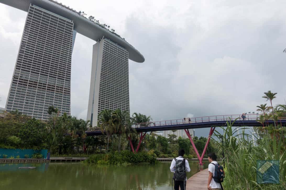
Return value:
M 1 1 L 0 1 L 1 2 Z M 74 1 L 145 57 L 129 61 L 130 111 L 153 121 L 241 114 L 286 98 L 285 1 Z M 0 3 L 0 107 L 5 107 L 27 13 Z M 77 34 L 71 111 L 86 119 L 92 45 Z M 206 136 L 208 129 L 196 129 Z

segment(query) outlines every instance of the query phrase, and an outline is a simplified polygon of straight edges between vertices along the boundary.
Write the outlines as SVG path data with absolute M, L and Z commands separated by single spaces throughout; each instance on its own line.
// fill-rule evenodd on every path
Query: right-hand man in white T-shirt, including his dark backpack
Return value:
M 223 190 L 221 183 L 225 177 L 223 166 L 217 163 L 217 156 L 215 153 L 208 154 L 208 190 Z

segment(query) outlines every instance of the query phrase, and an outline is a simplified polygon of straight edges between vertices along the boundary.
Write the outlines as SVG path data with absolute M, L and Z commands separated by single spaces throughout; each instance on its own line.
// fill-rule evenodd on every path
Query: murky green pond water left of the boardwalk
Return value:
M 191 177 L 200 169 L 190 161 Z M 19 169 L 35 166 L 35 169 Z M 204 167 L 207 163 L 204 164 Z M 149 190 L 172 189 L 170 162 L 130 166 L 83 163 L 0 164 L 0 189 L 5 190 Z

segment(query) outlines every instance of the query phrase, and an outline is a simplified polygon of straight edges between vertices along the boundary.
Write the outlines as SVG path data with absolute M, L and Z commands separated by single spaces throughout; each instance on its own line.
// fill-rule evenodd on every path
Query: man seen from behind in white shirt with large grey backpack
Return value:
M 187 181 L 187 174 L 186 172 L 190 172 L 190 166 L 188 160 L 183 158 L 185 151 L 183 149 L 179 150 L 179 156 L 172 160 L 170 170 L 174 172 L 174 189 L 179 190 L 186 190 L 186 181 Z M 173 184 L 173 181 L 172 181 Z M 173 186 L 173 185 L 172 185 Z

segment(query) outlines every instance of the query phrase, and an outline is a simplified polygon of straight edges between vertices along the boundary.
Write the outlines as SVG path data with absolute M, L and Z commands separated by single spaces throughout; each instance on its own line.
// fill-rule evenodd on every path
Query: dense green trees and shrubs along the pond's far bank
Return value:
M 133 146 L 139 143 L 139 136 L 132 127 L 136 123 L 151 120 L 150 116 L 134 113 L 132 117 L 126 111 L 103 110 L 100 113 L 98 128 L 91 127 L 89 121 L 68 116 L 59 116 L 59 110 L 50 106 L 47 112 L 51 115 L 48 121 L 32 119 L 18 111 L 7 113 L 0 119 L 0 148 L 48 149 L 52 156 L 84 155 L 129 150 L 130 141 Z M 85 131 L 100 129 L 107 135 L 89 136 Z M 178 155 L 179 149 L 184 149 L 186 158 L 196 157 L 188 139 L 168 135 L 169 138 L 156 133 L 146 134 L 139 152 L 153 151 L 157 157 L 172 158 Z M 194 137 L 194 143 L 202 152 L 205 137 Z M 214 141 L 210 141 L 208 151 L 215 151 Z

